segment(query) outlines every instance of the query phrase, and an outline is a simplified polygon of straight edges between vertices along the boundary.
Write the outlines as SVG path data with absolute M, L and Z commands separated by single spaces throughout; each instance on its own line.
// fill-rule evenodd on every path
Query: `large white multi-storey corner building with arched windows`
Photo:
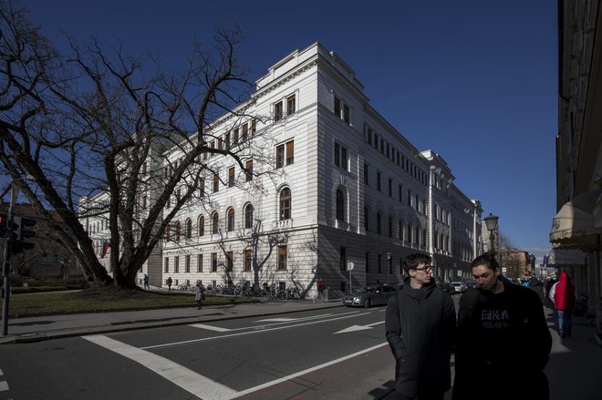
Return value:
M 256 84 L 241 107 L 269 118 L 223 116 L 213 145 L 259 140 L 254 149 L 271 162 L 245 166 L 272 173 L 250 176 L 232 159 L 207 159 L 215 173 L 202 180 L 203 196 L 178 214 L 140 277 L 148 273 L 155 285 L 168 277 L 254 282 L 254 263 L 265 262 L 260 282 L 313 291 L 323 278 L 332 291 L 347 291 L 400 283 L 403 257 L 414 251 L 433 256 L 441 280 L 470 276 L 483 252 L 480 202 L 453 184 L 440 155 L 414 148 L 370 107 L 343 60 L 316 43 Z M 181 151 L 168 149 L 163 159 L 174 163 Z M 103 222 L 87 220 L 93 240 L 104 241 Z

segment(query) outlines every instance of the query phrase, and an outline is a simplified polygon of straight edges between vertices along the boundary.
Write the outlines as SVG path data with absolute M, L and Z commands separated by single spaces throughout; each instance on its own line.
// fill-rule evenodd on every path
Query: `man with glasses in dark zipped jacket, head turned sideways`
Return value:
M 385 319 L 396 362 L 395 390 L 402 400 L 442 400 L 451 386 L 452 297 L 435 287 L 430 256 L 410 254 L 405 270 L 409 276 L 389 299 Z

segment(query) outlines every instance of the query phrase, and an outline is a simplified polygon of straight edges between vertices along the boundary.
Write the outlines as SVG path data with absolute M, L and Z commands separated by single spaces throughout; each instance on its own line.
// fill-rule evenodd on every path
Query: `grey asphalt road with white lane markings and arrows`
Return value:
M 384 307 L 346 307 L 2 346 L 10 396 L 375 399 L 393 376 Z

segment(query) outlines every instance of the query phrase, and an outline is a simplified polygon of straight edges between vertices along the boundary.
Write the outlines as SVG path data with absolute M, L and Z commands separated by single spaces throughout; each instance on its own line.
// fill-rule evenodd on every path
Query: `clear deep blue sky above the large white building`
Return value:
M 132 54 L 183 67 L 192 41 L 238 23 L 250 80 L 319 41 L 341 56 L 372 107 L 417 149 L 448 162 L 455 184 L 500 218 L 538 262 L 555 216 L 556 3 L 549 0 L 282 1 L 29 0 L 57 45 L 61 31 L 121 39 Z

